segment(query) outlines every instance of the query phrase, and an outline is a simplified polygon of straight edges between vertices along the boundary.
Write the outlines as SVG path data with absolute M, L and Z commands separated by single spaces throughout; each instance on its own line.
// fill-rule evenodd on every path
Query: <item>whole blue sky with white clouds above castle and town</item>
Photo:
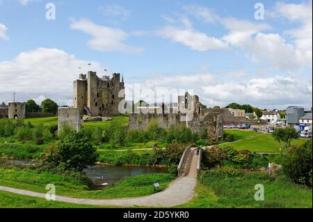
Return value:
M 121 73 L 128 100 L 140 84 L 208 107 L 310 109 L 312 1 L 0 0 L 0 102 L 72 105 L 89 70 Z

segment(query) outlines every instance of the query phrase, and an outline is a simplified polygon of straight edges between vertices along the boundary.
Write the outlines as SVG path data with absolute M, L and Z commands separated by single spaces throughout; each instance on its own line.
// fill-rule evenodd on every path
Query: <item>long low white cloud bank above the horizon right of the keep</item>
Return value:
M 127 87 L 131 89 L 129 84 Z M 298 80 L 276 76 L 220 81 L 211 74 L 177 74 L 150 77 L 149 80 L 141 82 L 141 88 L 190 89 L 208 106 L 225 106 L 230 102 L 249 103 L 270 109 L 273 107 L 284 109 L 289 105 L 312 106 L 312 79 Z M 153 98 L 145 95 L 145 100 L 153 101 Z

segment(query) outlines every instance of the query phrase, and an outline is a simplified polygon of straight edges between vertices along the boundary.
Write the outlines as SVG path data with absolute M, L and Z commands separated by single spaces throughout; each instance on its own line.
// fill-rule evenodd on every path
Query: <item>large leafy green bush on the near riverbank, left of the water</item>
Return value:
M 97 157 L 97 149 L 79 132 L 45 150 L 40 157 L 40 168 L 44 171 L 82 172 L 87 166 L 94 165 Z

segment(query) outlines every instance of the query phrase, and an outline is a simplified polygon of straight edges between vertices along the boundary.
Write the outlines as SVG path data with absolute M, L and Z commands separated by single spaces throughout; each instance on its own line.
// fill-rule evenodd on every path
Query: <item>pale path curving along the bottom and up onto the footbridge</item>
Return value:
M 187 203 L 193 198 L 193 189 L 195 188 L 197 176 L 197 161 L 198 155 L 192 152 L 193 158 L 191 167 L 186 177 L 179 177 L 172 182 L 168 189 L 159 193 L 154 193 L 150 196 L 141 198 L 120 198 L 112 200 L 96 200 L 96 199 L 81 199 L 69 198 L 65 196 L 56 196 L 56 200 L 65 203 L 79 203 L 85 205 L 102 205 L 102 206 L 122 206 L 122 207 L 173 207 Z M 25 196 L 33 196 L 38 198 L 45 198 L 45 193 L 37 193 L 33 191 L 26 191 L 22 189 L 13 189 L 10 187 L 1 187 L 1 191 L 8 191 L 10 193 L 22 194 Z

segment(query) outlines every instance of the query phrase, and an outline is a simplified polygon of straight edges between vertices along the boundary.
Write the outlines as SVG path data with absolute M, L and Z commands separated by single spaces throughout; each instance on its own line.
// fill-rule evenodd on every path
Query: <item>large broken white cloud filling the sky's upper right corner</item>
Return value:
M 186 13 L 204 23 L 220 24 L 229 31 L 221 38 L 234 47 L 248 52 L 248 57 L 257 63 L 268 63 L 273 68 L 291 70 L 312 68 L 312 4 L 277 3 L 269 13 L 272 17 L 284 17 L 290 22 L 300 22 L 300 28 L 286 31 L 294 42 L 287 42 L 279 33 L 264 33 L 271 26 L 259 22 L 220 17 L 211 9 L 198 6 L 183 6 Z

